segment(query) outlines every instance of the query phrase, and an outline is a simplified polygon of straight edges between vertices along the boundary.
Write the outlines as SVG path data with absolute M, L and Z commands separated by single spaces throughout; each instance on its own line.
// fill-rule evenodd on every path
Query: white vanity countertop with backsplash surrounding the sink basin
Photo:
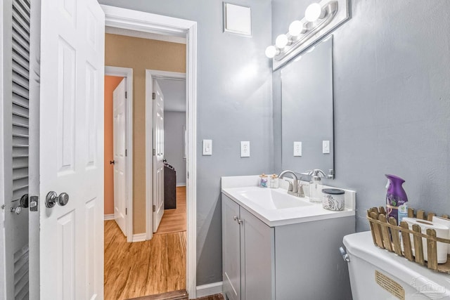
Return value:
M 258 181 L 259 176 L 257 175 L 222 177 L 222 193 L 230 197 L 231 200 L 237 202 L 241 207 L 250 211 L 250 213 L 270 227 L 355 215 L 356 192 L 345 189 L 343 189 L 345 190 L 345 209 L 342 211 L 323 209 L 321 203 L 287 209 L 264 209 L 264 207 L 249 201 L 239 193 L 243 190 L 261 189 L 257 186 Z M 331 187 L 324 185 L 324 188 Z M 278 190 L 281 193 L 287 193 L 285 185 L 281 186 Z M 309 201 L 308 197 L 300 199 Z

